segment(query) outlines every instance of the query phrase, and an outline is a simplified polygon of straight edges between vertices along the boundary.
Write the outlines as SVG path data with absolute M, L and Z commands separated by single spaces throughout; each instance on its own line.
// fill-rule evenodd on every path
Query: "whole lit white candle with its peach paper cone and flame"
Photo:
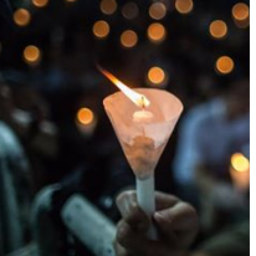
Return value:
M 182 103 L 166 91 L 132 90 L 110 73 L 102 72 L 123 92 L 108 96 L 103 104 L 136 176 L 138 204 L 152 217 L 154 169 L 182 112 Z M 156 239 L 153 228 L 148 236 Z

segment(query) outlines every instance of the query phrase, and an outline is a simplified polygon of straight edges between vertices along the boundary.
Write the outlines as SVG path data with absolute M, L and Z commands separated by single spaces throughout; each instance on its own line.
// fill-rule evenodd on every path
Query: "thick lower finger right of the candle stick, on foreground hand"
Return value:
M 171 208 L 158 211 L 154 219 L 159 230 L 176 245 L 190 245 L 197 234 L 197 214 L 187 203 L 178 202 Z

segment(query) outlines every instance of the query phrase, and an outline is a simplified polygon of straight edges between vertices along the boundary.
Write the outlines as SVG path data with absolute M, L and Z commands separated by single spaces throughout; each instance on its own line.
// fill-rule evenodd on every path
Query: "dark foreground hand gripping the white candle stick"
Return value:
M 139 208 L 135 191 L 117 197 L 122 219 L 117 226 L 118 256 L 183 256 L 197 234 L 197 214 L 192 206 L 177 197 L 156 192 L 156 213 L 152 220 Z M 146 237 L 150 222 L 159 239 Z

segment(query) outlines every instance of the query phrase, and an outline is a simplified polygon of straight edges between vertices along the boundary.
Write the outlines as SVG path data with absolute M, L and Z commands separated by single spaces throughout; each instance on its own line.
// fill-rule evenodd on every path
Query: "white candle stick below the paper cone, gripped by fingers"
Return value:
M 146 179 L 136 178 L 136 191 L 137 191 L 137 201 L 140 208 L 150 217 L 155 212 L 155 184 L 154 176 L 150 176 Z M 149 239 L 156 240 L 157 232 L 155 226 L 151 224 L 148 230 L 147 236 Z

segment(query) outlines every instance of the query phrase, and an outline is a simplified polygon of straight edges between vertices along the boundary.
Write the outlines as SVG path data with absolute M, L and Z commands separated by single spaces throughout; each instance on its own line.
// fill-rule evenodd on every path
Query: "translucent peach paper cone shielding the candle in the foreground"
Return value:
M 154 174 L 183 106 L 167 91 L 141 88 L 135 91 L 150 100 L 146 110 L 154 118 L 148 124 L 133 120 L 135 111 L 141 109 L 121 91 L 106 97 L 103 104 L 132 170 L 138 178 L 145 179 Z

